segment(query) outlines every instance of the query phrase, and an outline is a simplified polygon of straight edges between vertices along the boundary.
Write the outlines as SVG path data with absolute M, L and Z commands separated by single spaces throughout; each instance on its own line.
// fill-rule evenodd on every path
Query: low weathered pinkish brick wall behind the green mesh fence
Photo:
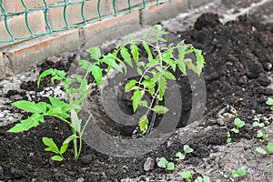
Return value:
M 197 5 L 220 0 L 172 0 L 171 3 L 151 6 L 144 10 L 133 11 L 131 14 L 117 15 L 114 18 L 101 22 L 70 28 L 69 30 L 56 32 L 50 35 L 41 35 L 32 39 L 16 40 L 14 43 L 0 43 L 0 79 L 6 76 L 16 75 L 28 70 L 31 66 L 43 61 L 47 56 L 58 55 L 63 52 L 76 51 L 84 45 L 88 39 L 98 35 L 101 31 L 119 25 L 148 25 L 155 24 L 160 20 L 170 18 L 179 13 L 185 12 Z M 1 0 L 0 0 L 1 2 Z M 67 2 L 79 2 L 78 0 L 67 0 Z M 46 0 L 47 5 L 62 5 L 62 0 Z M 84 12 L 86 21 L 99 18 L 97 12 L 98 0 L 86 0 Z M 157 0 L 147 0 L 147 4 L 157 3 Z M 6 11 L 20 12 L 21 14 L 11 15 L 7 25 L 16 37 L 30 36 L 31 33 L 25 25 L 25 6 L 21 0 L 2 0 Z M 112 0 L 100 1 L 100 13 L 102 16 L 115 15 Z M 48 33 L 52 29 L 66 28 L 68 25 L 76 25 L 84 22 L 81 15 L 81 4 L 67 5 L 66 19 L 64 20 L 64 7 L 50 7 L 48 10 L 48 25 L 45 22 L 45 10 L 32 11 L 34 8 L 45 7 L 43 0 L 25 0 L 25 5 L 30 10 L 27 14 L 27 21 L 33 34 Z M 142 7 L 143 0 L 131 0 L 133 8 Z M 127 0 L 116 0 L 116 13 L 128 10 Z M 0 11 L 3 14 L 2 9 Z M 1 14 L 0 12 L 0 14 Z M 107 37 L 101 37 L 100 42 L 106 38 L 116 37 L 115 33 Z M 0 40 L 10 40 L 11 36 L 6 31 L 4 17 L 0 17 Z M 99 42 L 98 42 L 99 43 Z M 97 43 L 97 44 L 98 44 Z

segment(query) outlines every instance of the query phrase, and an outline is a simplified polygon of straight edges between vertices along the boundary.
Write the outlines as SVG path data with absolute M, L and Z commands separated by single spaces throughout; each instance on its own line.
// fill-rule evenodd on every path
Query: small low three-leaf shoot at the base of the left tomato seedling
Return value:
M 68 144 L 63 144 L 63 146 L 59 149 L 56 146 L 56 143 L 53 141 L 53 139 L 48 137 L 43 137 L 43 143 L 45 144 L 45 146 L 47 146 L 45 148 L 45 151 L 53 152 L 56 154 L 55 156 L 51 157 L 52 160 L 56 161 L 65 160 L 63 154 L 66 152 Z

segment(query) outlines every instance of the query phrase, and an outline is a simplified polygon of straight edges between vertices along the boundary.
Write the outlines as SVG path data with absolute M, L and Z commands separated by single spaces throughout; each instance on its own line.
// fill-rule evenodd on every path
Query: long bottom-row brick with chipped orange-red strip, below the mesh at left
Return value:
M 24 73 L 48 56 L 76 51 L 80 46 L 78 29 L 41 36 L 11 48 L 6 55 L 14 74 Z

